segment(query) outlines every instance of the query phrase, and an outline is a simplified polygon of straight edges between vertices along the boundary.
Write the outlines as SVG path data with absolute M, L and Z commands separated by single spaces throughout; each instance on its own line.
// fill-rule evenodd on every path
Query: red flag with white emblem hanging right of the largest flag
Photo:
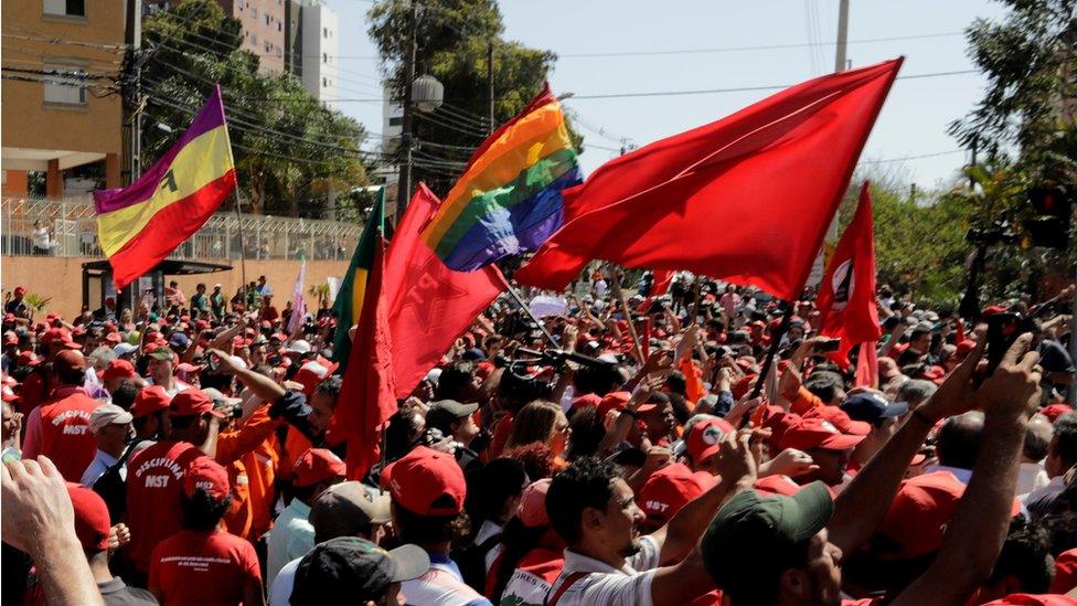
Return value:
M 819 285 L 819 332 L 841 338 L 836 358 L 849 364 L 849 352 L 860 343 L 878 341 L 878 308 L 875 306 L 875 226 L 872 193 L 867 181 L 860 190 L 860 204 Z

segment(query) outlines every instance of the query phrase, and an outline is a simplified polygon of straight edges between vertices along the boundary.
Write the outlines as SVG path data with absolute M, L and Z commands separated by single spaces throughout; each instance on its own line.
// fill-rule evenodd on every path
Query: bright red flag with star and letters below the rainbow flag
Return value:
M 509 287 L 493 265 L 476 272 L 449 269 L 423 241 L 420 234 L 440 205 L 419 183 L 386 255 L 384 289 L 396 397 L 407 397 L 452 341 Z

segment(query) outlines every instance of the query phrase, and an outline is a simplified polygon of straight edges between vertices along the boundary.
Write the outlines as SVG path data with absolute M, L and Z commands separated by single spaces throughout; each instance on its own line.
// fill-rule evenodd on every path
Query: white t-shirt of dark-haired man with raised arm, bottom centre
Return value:
M 565 567 L 551 586 L 548 599 L 557 594 L 569 575 L 583 572 L 590 574 L 577 578 L 561 595 L 556 606 L 651 606 L 651 581 L 662 549 L 649 535 L 640 539 L 640 552 L 629 557 L 620 568 L 566 549 Z

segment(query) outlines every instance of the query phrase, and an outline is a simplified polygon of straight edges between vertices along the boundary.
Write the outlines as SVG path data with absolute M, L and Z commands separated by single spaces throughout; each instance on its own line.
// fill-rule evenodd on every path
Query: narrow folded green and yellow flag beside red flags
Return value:
M 366 294 L 366 279 L 371 266 L 374 264 L 374 247 L 385 233 L 385 188 L 377 190 L 377 199 L 371 211 L 366 226 L 363 227 L 362 235 L 359 236 L 359 244 L 355 245 L 355 253 L 352 254 L 352 262 L 348 266 L 348 274 L 340 284 L 340 291 L 337 293 L 337 301 L 333 308 L 337 311 L 337 337 L 333 340 L 333 361 L 340 364 L 337 374 L 344 373 L 348 364 L 348 355 L 351 353 L 352 342 L 348 338 L 348 330 L 359 323 L 363 316 L 363 297 Z

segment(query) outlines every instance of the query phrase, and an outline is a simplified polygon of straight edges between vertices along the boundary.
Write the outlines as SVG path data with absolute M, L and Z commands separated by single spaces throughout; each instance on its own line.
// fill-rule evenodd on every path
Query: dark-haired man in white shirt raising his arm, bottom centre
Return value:
M 716 457 L 724 480 L 646 536 L 646 515 L 611 464 L 580 459 L 554 476 L 546 510 L 568 547 L 547 606 L 687 604 L 712 591 L 696 540 L 726 497 L 756 477 L 747 437 L 727 436 Z

